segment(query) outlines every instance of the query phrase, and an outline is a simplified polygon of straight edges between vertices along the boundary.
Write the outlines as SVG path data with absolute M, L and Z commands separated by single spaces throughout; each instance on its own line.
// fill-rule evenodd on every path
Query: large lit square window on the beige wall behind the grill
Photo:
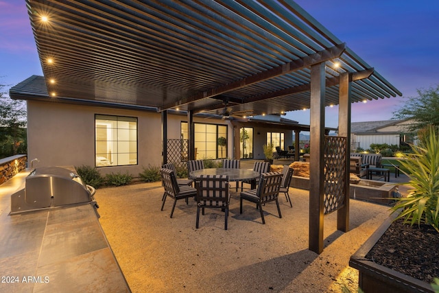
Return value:
M 137 165 L 137 118 L 95 115 L 96 167 Z

